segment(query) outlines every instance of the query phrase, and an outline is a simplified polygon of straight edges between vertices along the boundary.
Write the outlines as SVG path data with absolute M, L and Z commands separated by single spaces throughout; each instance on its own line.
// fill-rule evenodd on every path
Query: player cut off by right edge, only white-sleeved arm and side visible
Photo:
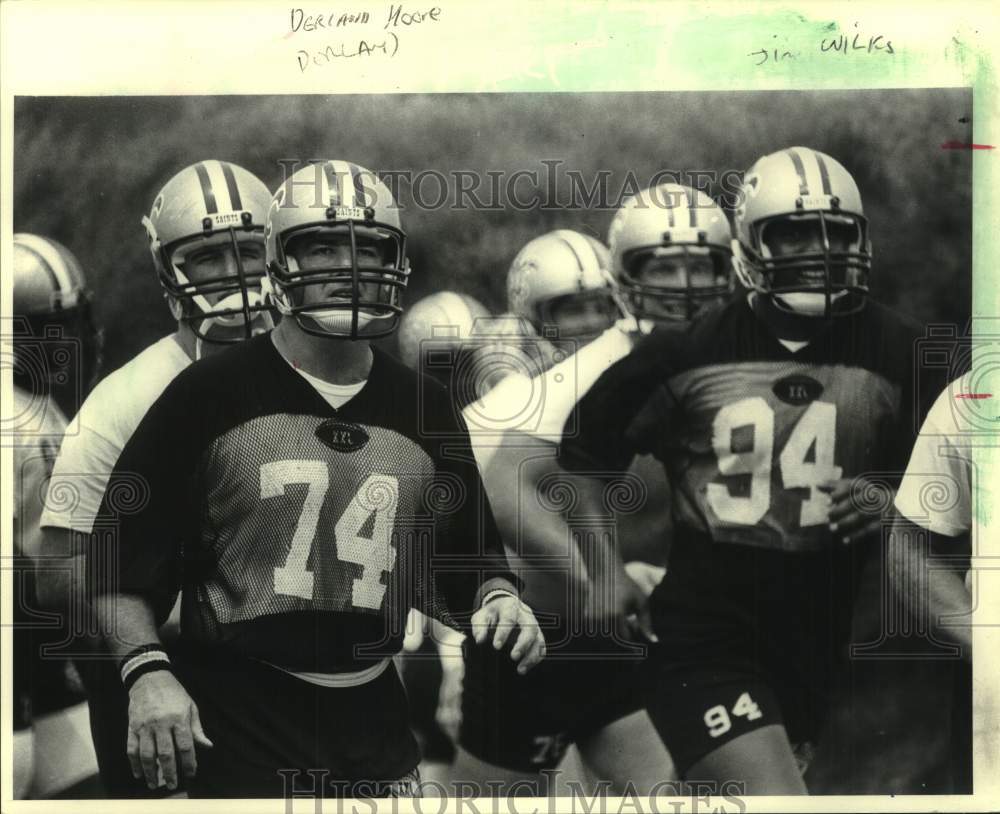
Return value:
M 960 646 L 953 672 L 952 793 L 972 793 L 972 508 L 988 504 L 990 479 L 973 478 L 976 434 L 993 432 L 992 410 L 970 398 L 996 392 L 988 376 L 969 372 L 938 396 L 924 419 L 896 494 L 889 537 L 889 577 L 921 629 Z M 934 563 L 933 560 L 937 562 Z M 948 560 L 951 568 L 942 567 Z M 936 567 L 932 567 L 932 563 Z M 963 580 L 961 572 L 965 570 Z M 950 623 L 949 623 L 950 622 Z

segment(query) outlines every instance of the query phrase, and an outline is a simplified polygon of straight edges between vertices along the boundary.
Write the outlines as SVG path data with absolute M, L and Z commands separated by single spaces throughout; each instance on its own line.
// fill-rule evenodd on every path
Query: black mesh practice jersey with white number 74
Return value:
M 102 506 L 118 569 L 95 578 L 158 614 L 183 587 L 193 643 L 362 669 L 398 651 L 409 607 L 461 626 L 483 590 L 514 589 L 446 391 L 378 351 L 340 409 L 270 336 L 192 365 L 136 429 L 109 494 L 116 478 L 134 505 Z

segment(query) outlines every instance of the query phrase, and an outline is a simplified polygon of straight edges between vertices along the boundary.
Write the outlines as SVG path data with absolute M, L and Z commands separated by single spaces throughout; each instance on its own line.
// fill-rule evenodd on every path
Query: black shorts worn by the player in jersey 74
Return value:
M 365 684 L 321 687 L 219 652 L 173 658 L 214 743 L 198 750 L 191 797 L 402 796 L 393 789 L 414 776 L 420 754 L 392 663 Z

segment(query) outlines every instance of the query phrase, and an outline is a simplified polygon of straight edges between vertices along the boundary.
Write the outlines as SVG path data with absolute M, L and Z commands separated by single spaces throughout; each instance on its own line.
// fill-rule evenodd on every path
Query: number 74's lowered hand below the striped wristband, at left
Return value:
M 157 766 L 167 788 L 177 788 L 177 764 L 185 777 L 198 771 L 195 744 L 211 748 L 201 728 L 198 707 L 169 670 L 141 676 L 129 691 L 126 752 L 136 780 L 159 785 Z

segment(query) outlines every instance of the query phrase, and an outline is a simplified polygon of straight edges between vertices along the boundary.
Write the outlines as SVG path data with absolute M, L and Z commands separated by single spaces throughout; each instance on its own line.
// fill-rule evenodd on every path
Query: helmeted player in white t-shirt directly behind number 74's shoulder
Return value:
M 60 570 L 42 575 L 42 599 L 74 615 L 77 633 L 88 629 L 71 601 L 82 596 L 82 561 L 74 565 L 67 558 L 85 551 L 90 535 L 106 531 L 95 528 L 95 518 L 135 428 L 192 360 L 273 327 L 260 292 L 270 202 L 271 193 L 253 174 L 229 162 L 206 160 L 174 175 L 142 218 L 177 329 L 108 375 L 88 396 L 56 461 L 41 518 L 44 550 L 62 560 Z M 122 749 L 128 698 L 117 665 L 96 639 L 89 646 L 98 649 L 79 665 L 104 791 L 112 798 L 148 796 Z

